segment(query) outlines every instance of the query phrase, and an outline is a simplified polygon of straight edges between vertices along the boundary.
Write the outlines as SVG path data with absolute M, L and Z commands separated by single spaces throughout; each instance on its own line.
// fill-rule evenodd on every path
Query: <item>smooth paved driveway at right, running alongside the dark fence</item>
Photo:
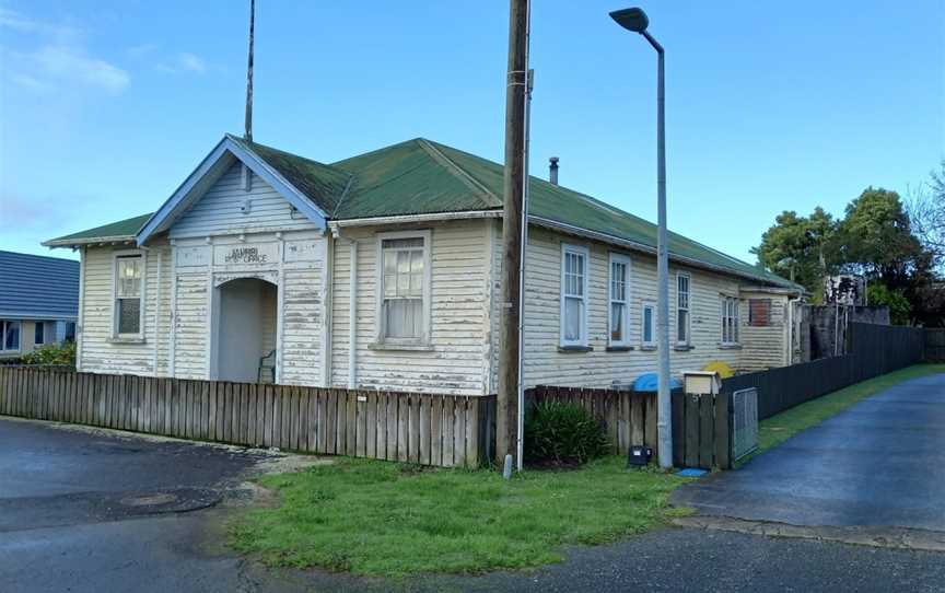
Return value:
M 945 374 L 864 399 L 673 501 L 792 525 L 945 532 Z

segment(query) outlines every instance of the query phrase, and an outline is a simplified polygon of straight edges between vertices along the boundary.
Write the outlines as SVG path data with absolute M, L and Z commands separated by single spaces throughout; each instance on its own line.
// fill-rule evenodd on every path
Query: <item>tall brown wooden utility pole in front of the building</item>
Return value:
M 528 0 L 510 0 L 505 89 L 505 178 L 502 212 L 502 281 L 495 456 L 516 455 L 518 438 L 522 214 L 525 195 L 525 93 L 528 77 Z

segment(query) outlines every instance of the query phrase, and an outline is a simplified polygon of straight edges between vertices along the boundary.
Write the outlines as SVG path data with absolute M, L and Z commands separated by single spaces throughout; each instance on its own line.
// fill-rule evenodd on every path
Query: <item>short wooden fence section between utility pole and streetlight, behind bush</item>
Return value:
M 654 393 L 538 385 L 525 397 L 536 404 L 567 402 L 582 406 L 604 426 L 610 449 L 618 455 L 626 455 L 630 445 L 646 445 L 656 452 Z

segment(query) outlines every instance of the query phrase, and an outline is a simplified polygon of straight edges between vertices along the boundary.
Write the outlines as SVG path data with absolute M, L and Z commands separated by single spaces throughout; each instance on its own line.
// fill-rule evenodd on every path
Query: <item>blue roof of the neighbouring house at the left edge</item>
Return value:
M 0 251 L 0 317 L 78 316 L 79 261 Z

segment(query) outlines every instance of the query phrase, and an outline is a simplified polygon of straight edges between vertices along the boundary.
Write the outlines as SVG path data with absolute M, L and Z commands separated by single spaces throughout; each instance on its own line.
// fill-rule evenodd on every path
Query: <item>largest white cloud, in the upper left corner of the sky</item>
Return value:
M 127 71 L 90 56 L 82 33 L 71 26 L 36 21 L 23 14 L 0 9 L 0 27 L 38 37 L 34 50 L 4 50 L 3 72 L 22 88 L 47 90 L 61 85 L 81 85 L 108 92 L 120 92 L 130 82 Z

